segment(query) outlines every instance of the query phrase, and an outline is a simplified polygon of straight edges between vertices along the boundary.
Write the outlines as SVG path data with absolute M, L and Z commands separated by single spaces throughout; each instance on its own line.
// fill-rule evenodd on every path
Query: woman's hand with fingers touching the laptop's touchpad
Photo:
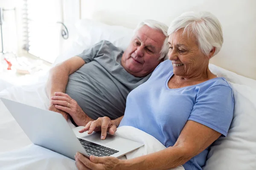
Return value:
M 95 121 L 90 121 L 87 125 L 80 130 L 80 133 L 83 133 L 88 130 L 88 134 L 101 131 L 101 139 L 105 139 L 107 136 L 107 132 L 113 135 L 116 131 L 115 123 L 109 117 L 100 117 Z

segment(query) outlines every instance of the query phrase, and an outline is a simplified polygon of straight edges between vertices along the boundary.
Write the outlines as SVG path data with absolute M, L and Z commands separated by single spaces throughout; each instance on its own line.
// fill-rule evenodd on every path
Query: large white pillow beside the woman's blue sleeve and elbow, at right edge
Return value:
M 256 170 L 256 90 L 230 83 L 235 98 L 227 137 L 212 145 L 204 170 Z

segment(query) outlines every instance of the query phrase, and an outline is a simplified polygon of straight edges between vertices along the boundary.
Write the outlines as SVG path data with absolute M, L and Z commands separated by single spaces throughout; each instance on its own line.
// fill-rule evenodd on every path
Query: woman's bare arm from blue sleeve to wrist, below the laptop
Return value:
M 125 169 L 168 170 L 183 165 L 212 144 L 221 133 L 198 122 L 187 121 L 174 146 L 124 161 Z

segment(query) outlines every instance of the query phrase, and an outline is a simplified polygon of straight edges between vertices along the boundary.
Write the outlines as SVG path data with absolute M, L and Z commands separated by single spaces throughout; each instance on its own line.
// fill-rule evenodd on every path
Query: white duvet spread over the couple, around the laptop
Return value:
M 28 86 L 13 86 L 0 92 L 0 97 L 11 99 L 37 108 L 47 109 L 49 99 L 45 93 L 45 81 Z M 44 147 L 32 144 L 7 108 L 0 101 L 0 167 L 4 170 L 73 170 L 75 161 Z M 71 124 L 71 127 L 74 125 Z M 79 128 L 79 127 L 76 127 Z M 144 143 L 143 147 L 123 156 L 132 159 L 163 150 L 166 147 L 153 136 L 134 127 L 119 127 L 117 136 Z M 184 170 L 182 166 L 173 170 Z

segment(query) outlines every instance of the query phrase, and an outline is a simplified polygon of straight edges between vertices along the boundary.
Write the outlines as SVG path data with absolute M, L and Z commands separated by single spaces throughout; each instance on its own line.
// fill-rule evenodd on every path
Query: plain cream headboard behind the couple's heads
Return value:
M 186 11 L 209 11 L 221 22 L 224 43 L 210 62 L 256 79 L 256 0 L 80 0 L 80 17 L 135 28 L 145 19 L 168 26 Z

